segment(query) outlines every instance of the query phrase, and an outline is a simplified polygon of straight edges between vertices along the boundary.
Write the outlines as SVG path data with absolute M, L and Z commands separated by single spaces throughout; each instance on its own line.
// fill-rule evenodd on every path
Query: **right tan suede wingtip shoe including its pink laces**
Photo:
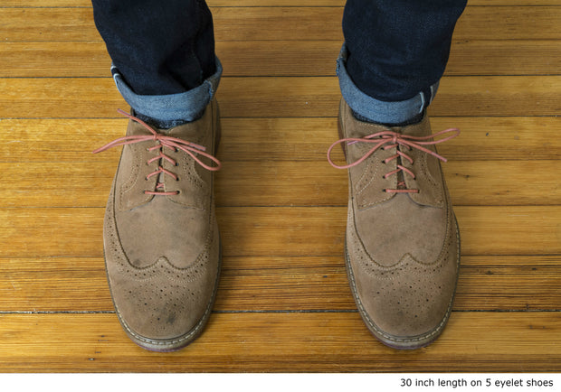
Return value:
M 423 347 L 442 332 L 456 289 L 460 235 L 434 144 L 459 131 L 432 135 L 426 116 L 401 128 L 361 122 L 344 101 L 339 126 L 328 160 L 349 169 L 346 260 L 358 310 L 386 345 Z M 329 156 L 338 144 L 346 165 Z

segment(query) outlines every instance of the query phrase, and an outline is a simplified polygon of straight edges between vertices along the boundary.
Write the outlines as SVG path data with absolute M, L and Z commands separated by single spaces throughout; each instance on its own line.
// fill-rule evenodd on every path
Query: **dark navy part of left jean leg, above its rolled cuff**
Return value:
M 139 95 L 200 86 L 216 71 L 213 19 L 204 0 L 92 0 L 116 70 Z

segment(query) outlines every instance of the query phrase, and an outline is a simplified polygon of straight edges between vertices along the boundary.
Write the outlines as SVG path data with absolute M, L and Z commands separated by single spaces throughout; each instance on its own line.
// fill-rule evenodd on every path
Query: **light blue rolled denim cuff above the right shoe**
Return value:
M 347 105 L 360 117 L 380 124 L 401 124 L 423 113 L 436 95 L 438 82 L 431 86 L 431 97 L 428 98 L 425 98 L 423 92 L 419 92 L 414 98 L 397 102 L 385 102 L 367 96 L 357 88 L 347 73 L 347 54 L 347 47 L 343 44 L 337 61 L 339 87 Z

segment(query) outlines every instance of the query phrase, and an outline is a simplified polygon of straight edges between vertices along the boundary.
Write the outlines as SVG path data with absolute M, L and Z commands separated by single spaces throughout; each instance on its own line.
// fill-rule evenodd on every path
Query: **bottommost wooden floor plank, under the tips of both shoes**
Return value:
M 561 314 L 453 313 L 421 350 L 377 342 L 357 313 L 214 314 L 185 350 L 138 348 L 114 314 L 0 316 L 5 372 L 559 371 Z

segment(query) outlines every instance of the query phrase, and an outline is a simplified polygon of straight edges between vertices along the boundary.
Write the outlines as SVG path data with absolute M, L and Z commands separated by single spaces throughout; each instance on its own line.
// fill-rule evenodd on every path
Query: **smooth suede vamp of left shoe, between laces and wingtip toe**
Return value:
M 177 268 L 192 266 L 210 235 L 208 210 L 185 208 L 165 196 L 116 212 L 115 219 L 120 245 L 128 262 L 138 268 L 161 257 Z

